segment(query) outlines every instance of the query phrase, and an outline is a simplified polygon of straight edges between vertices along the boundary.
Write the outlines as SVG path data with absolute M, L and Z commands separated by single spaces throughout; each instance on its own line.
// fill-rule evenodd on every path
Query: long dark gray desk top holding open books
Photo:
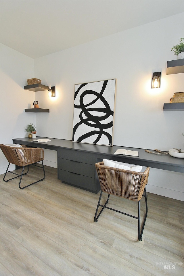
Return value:
M 126 162 L 130 164 L 136 164 L 141 166 L 149 166 L 152 168 L 159 168 L 163 170 L 171 170 L 180 173 L 184 173 L 184 158 L 175 158 L 168 155 L 156 155 L 145 152 L 145 149 L 132 148 L 132 147 L 121 147 L 121 146 L 104 146 L 87 143 L 72 142 L 70 140 L 48 138 L 51 141 L 46 143 L 31 142 L 37 139 L 44 139 L 47 137 L 37 137 L 29 139 L 24 138 L 13 138 L 12 140 L 16 144 L 29 145 L 32 147 L 41 147 L 49 150 L 57 150 L 58 148 L 69 148 L 73 150 L 81 150 L 85 152 L 92 152 L 96 154 L 97 159 L 107 158 L 114 159 L 120 162 Z M 135 150 L 139 152 L 139 156 L 128 156 L 114 154 L 117 149 Z M 150 150 L 150 149 L 148 149 Z M 152 151 L 152 150 L 151 150 Z M 97 162 L 99 162 L 97 160 Z

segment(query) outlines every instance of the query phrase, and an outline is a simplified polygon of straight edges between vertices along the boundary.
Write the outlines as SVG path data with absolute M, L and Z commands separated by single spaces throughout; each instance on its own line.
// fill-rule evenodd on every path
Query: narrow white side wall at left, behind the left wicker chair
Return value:
M 36 124 L 35 114 L 24 113 L 34 101 L 34 92 L 24 90 L 25 81 L 34 76 L 34 60 L 1 44 L 0 143 L 13 144 L 12 138 L 26 137 L 28 123 Z M 0 151 L 0 174 L 8 162 Z M 12 165 L 10 169 L 14 169 Z

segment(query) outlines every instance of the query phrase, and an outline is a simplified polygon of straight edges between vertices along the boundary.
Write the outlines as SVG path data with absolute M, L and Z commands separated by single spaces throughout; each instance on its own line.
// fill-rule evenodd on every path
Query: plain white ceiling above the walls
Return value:
M 183 0 L 0 0 L 0 42 L 37 58 L 183 11 Z

